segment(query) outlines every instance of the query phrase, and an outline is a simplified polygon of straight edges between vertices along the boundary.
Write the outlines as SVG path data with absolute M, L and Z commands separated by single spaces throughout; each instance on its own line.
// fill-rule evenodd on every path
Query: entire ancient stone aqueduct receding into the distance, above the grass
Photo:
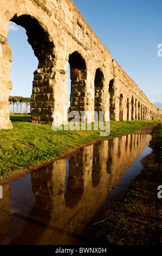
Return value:
M 110 111 L 112 120 L 162 118 L 162 110 L 112 60 L 71 0 L 1 0 L 0 14 L 0 129 L 12 128 L 8 101 L 12 89 L 9 21 L 26 29 L 38 59 L 31 95 L 33 123 L 50 125 L 52 113 L 67 108 L 68 63 L 71 111 Z

